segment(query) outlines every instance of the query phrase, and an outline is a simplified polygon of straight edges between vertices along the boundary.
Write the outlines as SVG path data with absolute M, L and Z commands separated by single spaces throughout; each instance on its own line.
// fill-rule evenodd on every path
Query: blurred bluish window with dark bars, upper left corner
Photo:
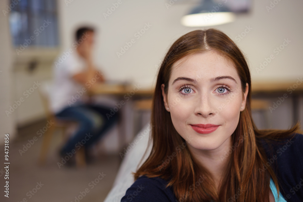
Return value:
M 10 0 L 9 24 L 12 43 L 23 46 L 57 47 L 58 18 L 55 0 Z M 21 49 L 22 50 L 22 49 Z

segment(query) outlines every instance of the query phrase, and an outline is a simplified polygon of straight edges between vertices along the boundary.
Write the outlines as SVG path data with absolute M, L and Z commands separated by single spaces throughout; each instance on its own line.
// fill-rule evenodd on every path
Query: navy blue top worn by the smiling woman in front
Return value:
M 303 135 L 296 134 L 280 143 L 264 142 L 263 147 L 268 165 L 261 169 L 273 168 L 285 200 L 303 201 Z M 172 187 L 165 188 L 167 183 L 160 177 L 141 176 L 128 188 L 121 202 L 178 202 Z

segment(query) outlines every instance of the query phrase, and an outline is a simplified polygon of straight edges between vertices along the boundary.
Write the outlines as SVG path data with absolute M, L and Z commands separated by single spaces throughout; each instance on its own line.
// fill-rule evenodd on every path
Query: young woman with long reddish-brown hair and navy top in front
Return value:
M 245 57 L 216 29 L 181 36 L 158 73 L 152 150 L 124 201 L 303 201 L 303 135 L 258 130 Z

